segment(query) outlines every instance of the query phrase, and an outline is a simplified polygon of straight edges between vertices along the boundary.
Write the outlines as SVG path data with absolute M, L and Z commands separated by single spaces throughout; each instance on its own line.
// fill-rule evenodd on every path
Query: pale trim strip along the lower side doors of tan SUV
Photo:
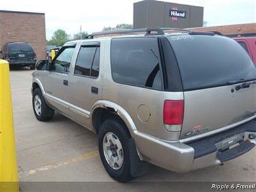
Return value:
M 44 96 L 47 97 L 47 99 L 52 100 L 53 102 L 57 102 L 58 104 L 63 106 L 63 108 L 67 108 L 70 111 L 77 113 L 77 115 L 84 116 L 85 118 L 90 118 L 90 111 L 79 108 L 73 104 L 70 104 L 69 102 L 67 102 L 65 100 L 62 100 L 62 99 L 59 99 L 52 95 L 49 95 L 48 93 L 45 93 Z

